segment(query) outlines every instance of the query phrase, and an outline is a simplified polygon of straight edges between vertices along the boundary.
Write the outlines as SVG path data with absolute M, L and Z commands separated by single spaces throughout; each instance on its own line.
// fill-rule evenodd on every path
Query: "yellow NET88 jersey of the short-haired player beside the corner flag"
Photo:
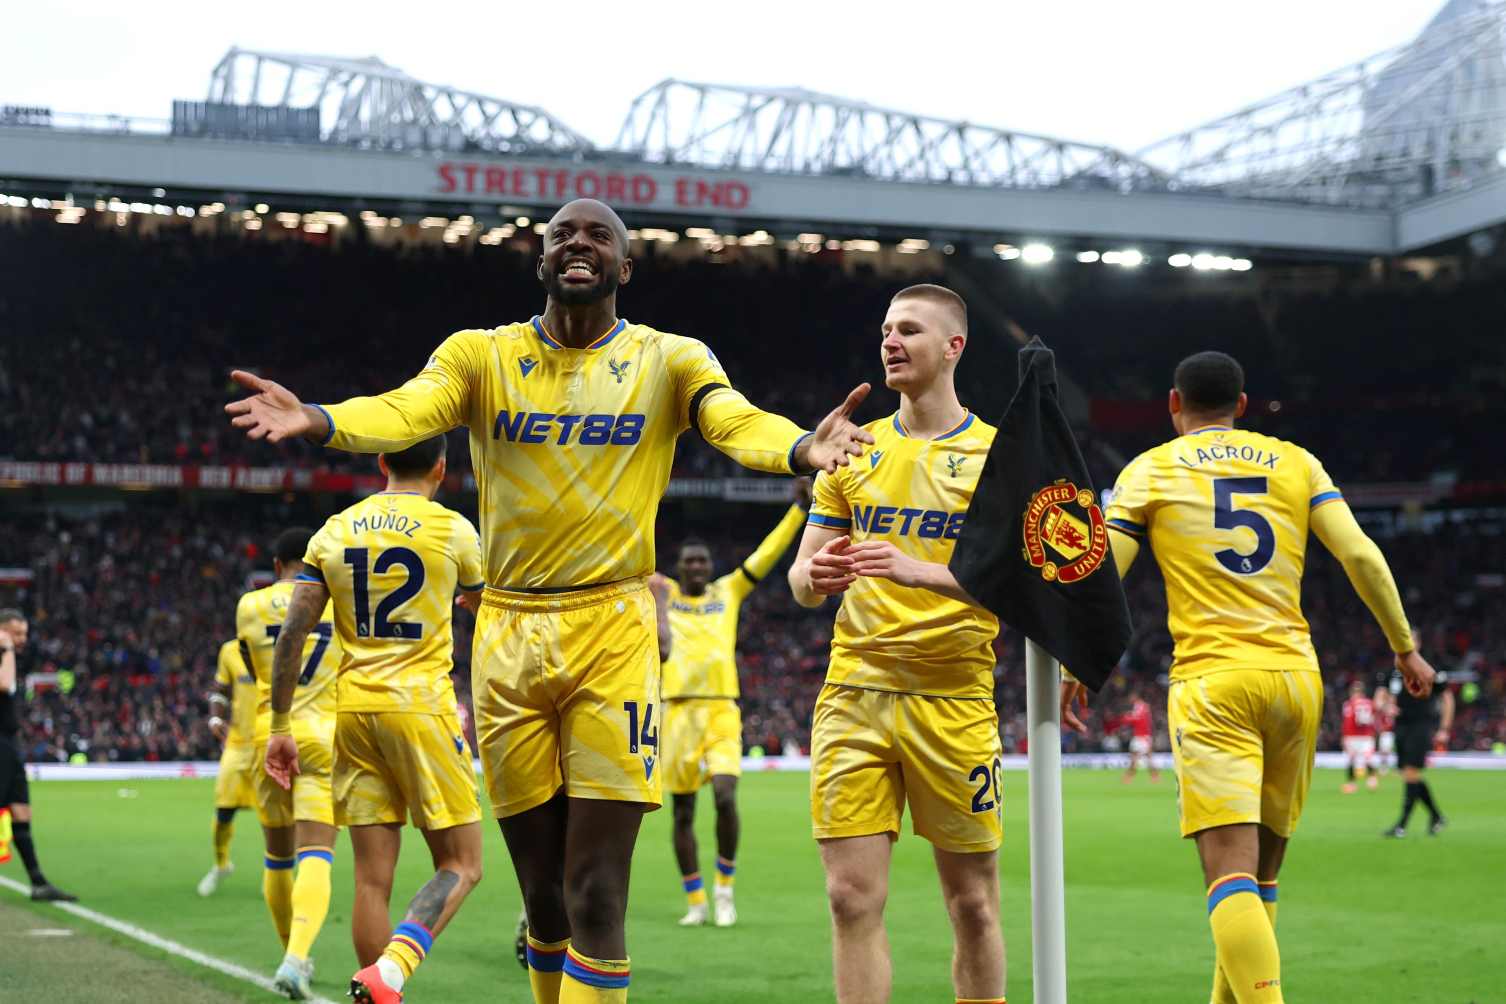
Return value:
M 810 522 L 889 540 L 922 561 L 946 564 L 994 426 L 971 412 L 935 440 L 911 440 L 890 415 L 864 426 L 867 453 L 816 477 Z M 986 610 L 883 578 L 858 578 L 842 595 L 828 683 L 932 697 L 992 697 L 998 619 Z

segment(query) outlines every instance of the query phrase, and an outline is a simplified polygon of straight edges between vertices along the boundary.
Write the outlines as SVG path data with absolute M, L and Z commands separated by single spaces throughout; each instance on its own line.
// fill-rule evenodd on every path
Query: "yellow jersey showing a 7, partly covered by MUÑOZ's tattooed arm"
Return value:
M 256 676 L 256 742 L 267 742 L 273 724 L 273 650 L 292 599 L 292 580 L 273 583 L 241 596 L 235 607 L 235 634 L 241 655 Z M 294 723 L 309 723 L 322 733 L 334 729 L 334 673 L 340 641 L 334 637 L 333 604 L 303 643 L 303 673 L 292 695 Z

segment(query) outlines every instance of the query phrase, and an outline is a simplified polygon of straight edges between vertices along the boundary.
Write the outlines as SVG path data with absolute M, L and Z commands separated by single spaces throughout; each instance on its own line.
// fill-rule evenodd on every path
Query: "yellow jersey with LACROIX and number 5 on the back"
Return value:
M 1104 515 L 1155 551 L 1173 680 L 1318 668 L 1301 608 L 1307 518 L 1339 498 L 1312 453 L 1247 429 L 1206 426 L 1130 462 Z

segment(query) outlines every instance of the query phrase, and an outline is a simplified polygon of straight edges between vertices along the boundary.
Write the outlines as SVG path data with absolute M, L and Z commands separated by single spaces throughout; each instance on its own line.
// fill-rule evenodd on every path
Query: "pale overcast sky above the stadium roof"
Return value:
M 610 143 L 664 77 L 798 84 L 1139 149 L 1413 38 L 1443 0 L 9 6 L 0 102 L 167 117 L 230 45 L 378 56 Z

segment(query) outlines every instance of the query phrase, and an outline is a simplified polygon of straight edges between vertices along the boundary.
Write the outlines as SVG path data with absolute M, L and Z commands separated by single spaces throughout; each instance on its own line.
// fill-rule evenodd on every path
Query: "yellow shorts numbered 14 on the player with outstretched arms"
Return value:
M 660 805 L 660 662 L 642 578 L 571 593 L 486 589 L 471 701 L 498 819 L 571 798 Z

